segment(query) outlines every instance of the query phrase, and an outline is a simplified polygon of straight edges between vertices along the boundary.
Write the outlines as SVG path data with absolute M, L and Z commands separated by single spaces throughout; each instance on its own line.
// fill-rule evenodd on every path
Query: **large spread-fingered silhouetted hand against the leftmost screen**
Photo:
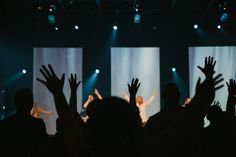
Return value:
M 59 79 L 56 76 L 56 74 L 50 64 L 48 65 L 48 68 L 46 68 L 43 65 L 42 68 L 40 68 L 40 72 L 46 81 L 44 81 L 40 78 L 37 78 L 37 80 L 39 82 L 41 82 L 42 84 L 44 84 L 50 92 L 55 93 L 55 92 L 63 90 L 63 86 L 64 86 L 64 82 L 65 82 L 65 74 L 63 74 L 61 79 Z

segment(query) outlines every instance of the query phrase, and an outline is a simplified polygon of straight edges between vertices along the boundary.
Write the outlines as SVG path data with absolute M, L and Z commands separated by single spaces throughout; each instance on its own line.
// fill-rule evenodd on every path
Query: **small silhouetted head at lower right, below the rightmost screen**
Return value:
M 210 121 L 210 123 L 219 123 L 224 119 L 224 114 L 220 106 L 212 105 L 207 113 L 206 118 Z

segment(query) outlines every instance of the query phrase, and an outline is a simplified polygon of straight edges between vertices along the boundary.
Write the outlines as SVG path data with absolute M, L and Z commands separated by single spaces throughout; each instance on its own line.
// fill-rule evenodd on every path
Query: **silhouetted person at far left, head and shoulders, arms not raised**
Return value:
M 17 156 L 39 156 L 43 152 L 47 134 L 42 119 L 31 116 L 32 92 L 27 88 L 15 93 L 16 113 L 2 122 L 4 153 Z M 2 139 L 1 139 L 2 140 Z

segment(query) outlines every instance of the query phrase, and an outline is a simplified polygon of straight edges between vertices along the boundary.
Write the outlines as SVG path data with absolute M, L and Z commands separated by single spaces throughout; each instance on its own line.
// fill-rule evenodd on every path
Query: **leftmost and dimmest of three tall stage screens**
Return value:
M 71 73 L 76 73 L 77 78 L 82 81 L 82 48 L 34 48 L 34 72 L 33 72 L 33 93 L 36 103 L 43 109 L 53 111 L 53 115 L 42 114 L 46 123 L 47 132 L 54 134 L 56 131 L 56 118 L 52 94 L 47 88 L 38 82 L 36 78 L 43 78 L 39 69 L 42 65 L 51 64 L 58 76 L 65 73 L 64 93 L 69 102 L 70 86 L 68 78 Z M 81 85 L 77 91 L 77 105 L 79 112 L 82 108 Z

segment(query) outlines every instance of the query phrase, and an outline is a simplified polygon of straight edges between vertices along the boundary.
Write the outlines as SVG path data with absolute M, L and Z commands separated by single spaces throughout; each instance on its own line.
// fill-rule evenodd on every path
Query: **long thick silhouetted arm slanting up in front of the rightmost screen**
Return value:
M 169 128 L 160 134 L 160 136 L 148 141 L 141 149 L 144 150 L 145 156 L 151 157 L 153 154 L 160 156 L 189 156 L 192 155 L 193 142 L 196 142 L 199 132 L 202 129 L 202 120 L 215 98 L 215 91 L 222 85 L 222 75 L 213 77 L 214 65 L 213 58 L 205 60 L 207 69 L 203 68 L 206 79 L 201 83 L 200 78 L 197 81 L 196 93 L 186 110 L 183 110 L 171 124 Z M 206 67 L 205 66 L 205 67 Z M 186 148 L 180 151 L 182 145 Z M 159 149 L 156 149 L 159 147 Z M 193 150 L 193 151 L 191 151 Z M 168 154 L 169 153 L 169 154 Z

